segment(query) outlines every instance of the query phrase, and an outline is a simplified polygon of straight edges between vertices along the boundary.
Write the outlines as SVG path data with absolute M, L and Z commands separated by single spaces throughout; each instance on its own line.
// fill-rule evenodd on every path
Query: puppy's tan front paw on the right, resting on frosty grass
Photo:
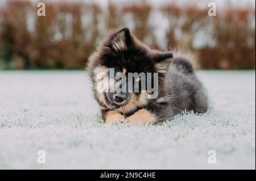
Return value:
M 134 125 L 151 124 L 151 123 L 155 123 L 156 121 L 157 120 L 155 116 L 146 109 L 141 109 L 125 119 L 125 123 L 131 123 Z

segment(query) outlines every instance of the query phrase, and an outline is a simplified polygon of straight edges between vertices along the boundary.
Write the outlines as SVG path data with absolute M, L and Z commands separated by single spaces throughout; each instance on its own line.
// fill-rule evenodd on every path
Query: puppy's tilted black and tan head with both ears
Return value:
M 102 107 L 122 107 L 126 112 L 146 106 L 148 95 L 152 95 L 149 87 L 164 77 L 171 60 L 172 53 L 148 48 L 128 28 L 111 33 L 89 58 L 96 99 Z M 108 83 L 108 87 L 99 91 L 102 83 Z

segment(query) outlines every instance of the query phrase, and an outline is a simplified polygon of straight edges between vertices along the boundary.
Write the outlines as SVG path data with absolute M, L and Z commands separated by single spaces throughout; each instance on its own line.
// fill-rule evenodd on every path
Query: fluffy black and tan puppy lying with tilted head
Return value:
M 144 73 L 144 81 L 148 76 L 153 79 L 153 75 L 147 73 L 158 73 L 157 96 L 150 97 L 152 92 L 147 88 L 138 92 L 117 92 L 115 88 L 111 92 L 98 91 L 97 86 L 103 81 L 102 73 L 110 77 L 111 68 L 114 74 Z M 208 109 L 207 96 L 190 62 L 182 57 L 173 58 L 170 52 L 148 48 L 131 35 L 128 28 L 110 33 L 102 41 L 89 58 L 88 70 L 105 123 L 150 124 L 170 119 L 184 110 L 201 113 Z M 139 82 L 143 79 L 131 83 L 141 87 Z M 110 84 L 116 82 L 111 78 L 108 81 Z

